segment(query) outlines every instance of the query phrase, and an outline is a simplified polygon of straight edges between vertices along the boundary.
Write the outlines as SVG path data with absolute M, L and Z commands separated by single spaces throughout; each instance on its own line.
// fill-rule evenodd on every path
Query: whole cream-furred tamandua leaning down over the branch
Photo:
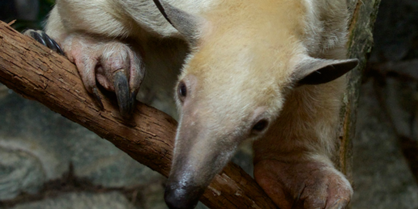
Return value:
M 358 64 L 346 59 L 346 0 L 56 0 L 45 30 L 99 103 L 96 82 L 116 92 L 122 115 L 138 91 L 174 92 L 169 208 L 194 208 L 243 140 L 281 209 L 350 201 L 331 162 L 343 75 Z

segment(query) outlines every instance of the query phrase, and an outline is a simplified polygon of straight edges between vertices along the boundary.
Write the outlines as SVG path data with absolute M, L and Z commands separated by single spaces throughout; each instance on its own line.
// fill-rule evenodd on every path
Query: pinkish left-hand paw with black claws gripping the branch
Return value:
M 84 86 L 99 107 L 103 108 L 103 104 L 97 82 L 104 89 L 116 93 L 121 115 L 130 116 L 145 69 L 141 57 L 128 44 L 84 34 L 66 36 L 60 44 L 43 31 L 28 30 L 25 35 L 65 54 L 76 64 Z

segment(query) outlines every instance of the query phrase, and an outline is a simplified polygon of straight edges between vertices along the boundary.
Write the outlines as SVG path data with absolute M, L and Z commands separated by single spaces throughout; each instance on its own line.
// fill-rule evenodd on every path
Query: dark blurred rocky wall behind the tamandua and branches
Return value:
M 51 0 L 0 0 L 39 28 Z M 418 1 L 382 0 L 354 140 L 353 209 L 418 209 Z M 234 162 L 252 173 L 243 147 Z M 165 209 L 158 173 L 0 84 L 0 209 Z M 199 208 L 205 208 L 199 205 Z

